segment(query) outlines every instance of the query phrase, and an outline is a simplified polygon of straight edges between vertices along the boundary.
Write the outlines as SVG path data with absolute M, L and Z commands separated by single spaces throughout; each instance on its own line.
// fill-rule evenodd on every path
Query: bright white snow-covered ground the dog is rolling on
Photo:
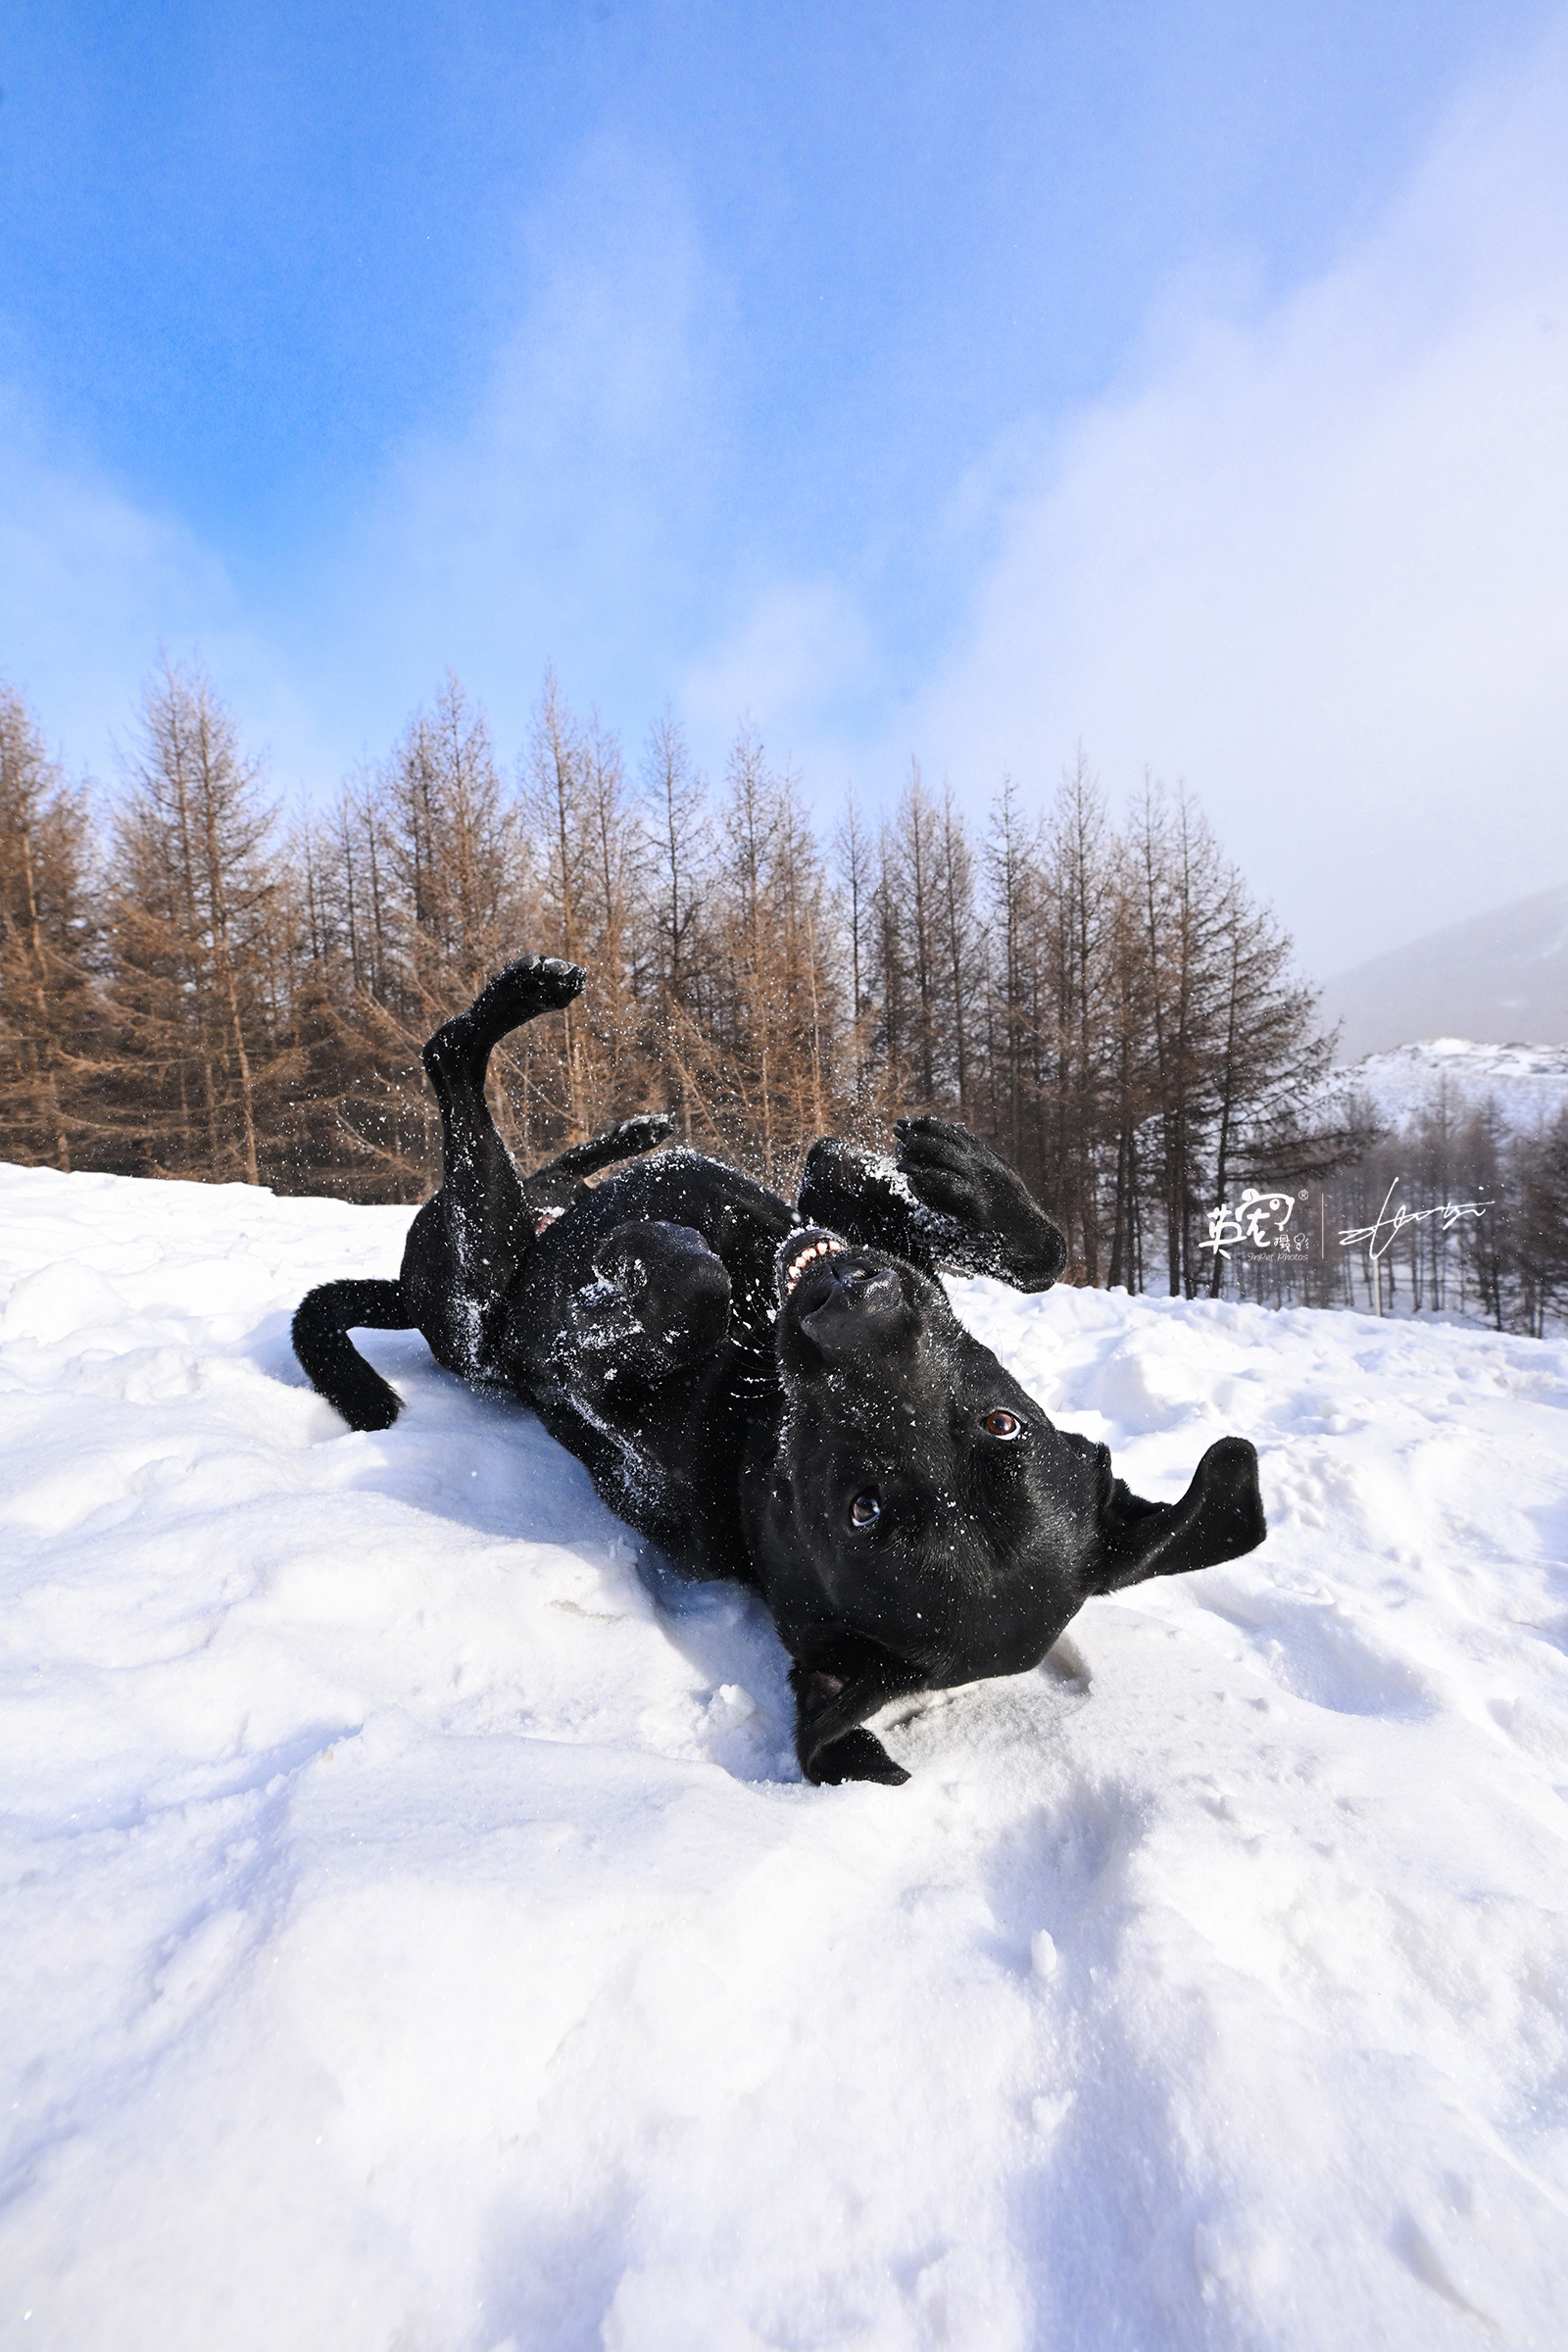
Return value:
M 1568 2336 L 1568 1348 L 954 1289 L 1251 1559 L 811 1790 L 738 1592 L 287 1324 L 407 1211 L 0 1169 L 0 2338 Z

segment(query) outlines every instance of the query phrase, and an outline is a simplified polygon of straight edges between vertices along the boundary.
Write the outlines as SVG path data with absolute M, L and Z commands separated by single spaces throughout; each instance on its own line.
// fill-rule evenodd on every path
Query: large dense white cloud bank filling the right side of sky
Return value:
M 1197 788 L 1316 969 L 1568 873 L 1568 33 L 1359 252 L 1173 315 L 1030 489 L 898 734 Z

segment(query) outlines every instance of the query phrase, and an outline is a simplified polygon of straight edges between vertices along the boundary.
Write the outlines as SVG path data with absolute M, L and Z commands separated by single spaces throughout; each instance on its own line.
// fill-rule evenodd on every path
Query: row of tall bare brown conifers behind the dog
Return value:
M 503 764 L 449 677 L 289 818 L 195 666 L 148 682 L 110 795 L 0 689 L 0 1155 L 421 1200 L 418 1049 L 522 950 L 590 974 L 496 1056 L 524 1164 L 668 1108 L 790 1185 L 811 1136 L 936 1110 L 1020 1167 L 1077 1279 L 1194 1296 L 1239 1279 L 1204 1249 L 1215 1202 L 1335 1185 L 1375 1141 L 1185 793 L 1112 823 L 1079 760 L 973 823 L 912 764 L 825 833 L 750 727 L 717 779 L 670 715 L 628 760 L 545 675 Z

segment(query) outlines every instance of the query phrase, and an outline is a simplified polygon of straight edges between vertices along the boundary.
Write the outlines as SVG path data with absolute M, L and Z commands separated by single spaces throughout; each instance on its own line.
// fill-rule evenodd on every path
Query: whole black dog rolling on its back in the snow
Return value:
M 583 985 L 524 957 L 435 1033 L 442 1174 L 397 1282 L 327 1282 L 294 1348 L 355 1430 L 397 1397 L 348 1341 L 418 1327 L 585 1463 L 691 1576 L 755 1585 L 790 1651 L 809 1780 L 905 1780 L 865 1719 L 910 1691 L 1018 1675 L 1091 1592 L 1262 1543 L 1258 1456 L 1213 1444 L 1180 1503 L 1053 1428 L 964 1331 L 936 1268 L 1044 1291 L 1063 1237 L 990 1145 L 900 1120 L 898 1171 L 823 1138 L 790 1209 L 738 1169 L 623 1127 L 517 1176 L 484 1105 L 491 1047 Z

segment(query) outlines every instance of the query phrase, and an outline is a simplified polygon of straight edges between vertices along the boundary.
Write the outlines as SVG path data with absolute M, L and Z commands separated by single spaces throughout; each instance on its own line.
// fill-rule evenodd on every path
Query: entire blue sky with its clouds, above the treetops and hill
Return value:
M 0 670 L 1185 776 L 1309 969 L 1568 870 L 1561 7 L 0 21 Z

